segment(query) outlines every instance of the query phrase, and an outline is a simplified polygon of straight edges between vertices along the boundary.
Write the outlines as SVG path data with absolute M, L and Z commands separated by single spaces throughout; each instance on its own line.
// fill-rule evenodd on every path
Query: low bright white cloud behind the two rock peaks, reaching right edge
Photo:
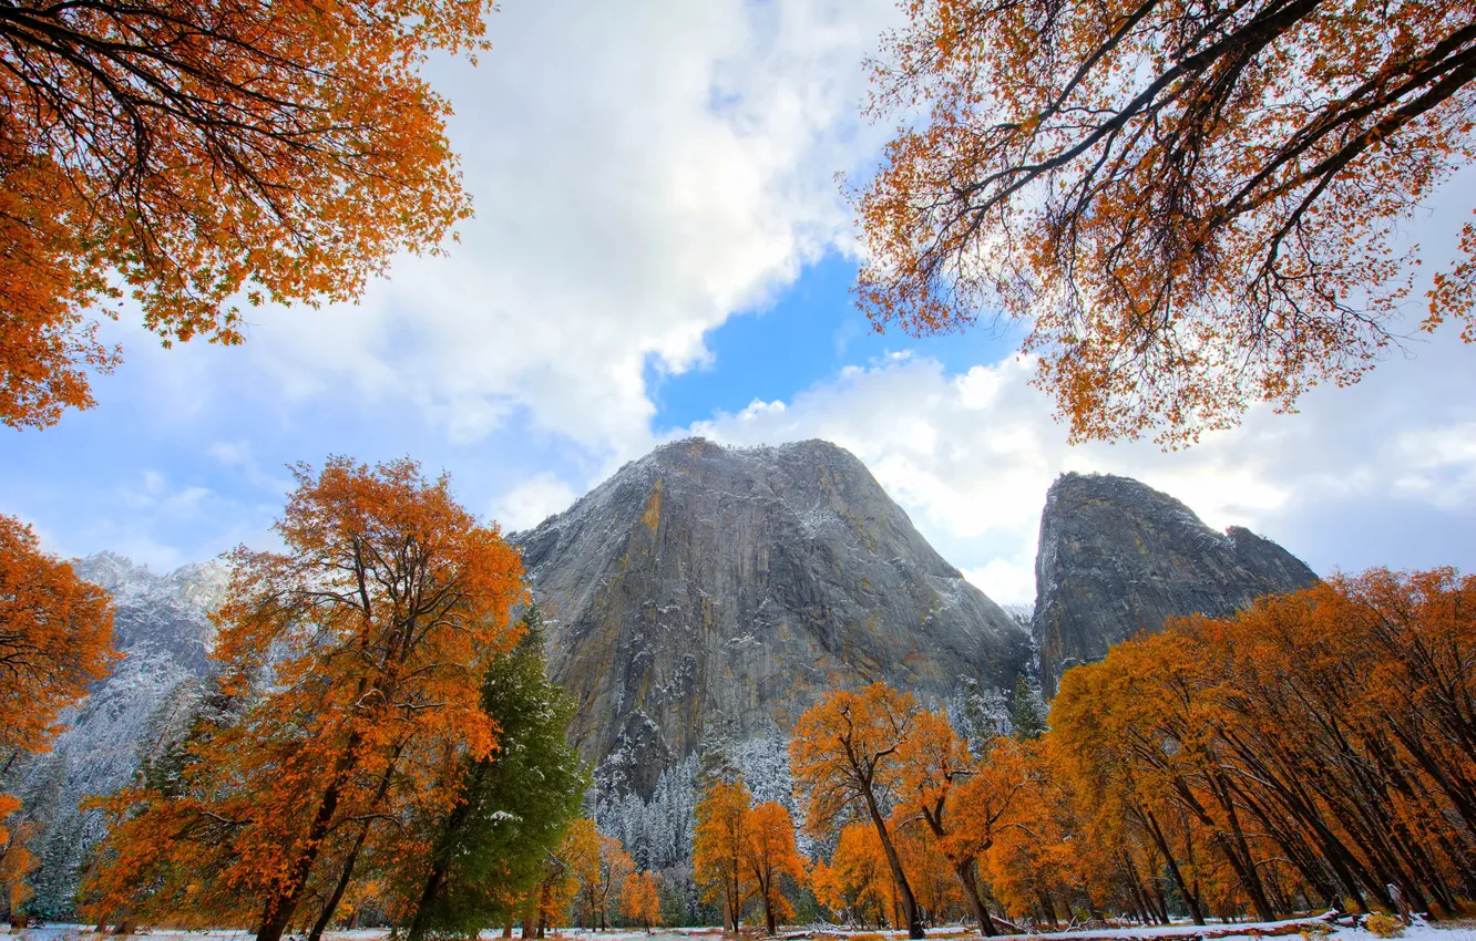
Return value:
M 1138 478 L 1206 524 L 1246 525 L 1324 572 L 1472 568 L 1476 375 L 1461 366 L 1473 354 L 1441 338 L 1418 360 L 1386 363 L 1359 386 L 1315 391 L 1300 414 L 1255 410 L 1244 426 L 1178 453 L 1148 442 L 1067 445 L 1045 397 L 1029 386 L 1026 358 L 949 376 L 936 360 L 889 357 L 793 401 L 756 401 L 682 434 L 731 444 L 835 441 L 946 559 L 1005 603 L 1033 599 L 1041 509 L 1064 471 Z M 1367 521 L 1395 529 L 1371 540 Z

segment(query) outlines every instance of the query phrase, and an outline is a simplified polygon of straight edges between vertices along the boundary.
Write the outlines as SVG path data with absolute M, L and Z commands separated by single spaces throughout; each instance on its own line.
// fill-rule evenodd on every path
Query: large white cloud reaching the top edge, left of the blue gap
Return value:
M 832 174 L 866 159 L 862 60 L 890 0 L 508 4 L 478 68 L 441 65 L 477 218 L 360 307 L 258 314 L 282 388 L 418 403 L 453 442 L 527 410 L 629 456 L 644 369 L 852 242 Z

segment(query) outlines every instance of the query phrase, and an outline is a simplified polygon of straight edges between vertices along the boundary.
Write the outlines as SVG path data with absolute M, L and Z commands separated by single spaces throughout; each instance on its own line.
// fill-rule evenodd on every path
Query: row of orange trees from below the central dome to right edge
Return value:
M 909 693 L 832 693 L 791 754 L 834 850 L 800 870 L 782 847 L 779 885 L 912 937 L 1476 898 L 1473 577 L 1371 571 L 1173 622 L 1067 671 L 1049 720 L 970 740 Z M 741 780 L 704 794 L 698 876 L 725 910 L 775 909 L 768 807 Z

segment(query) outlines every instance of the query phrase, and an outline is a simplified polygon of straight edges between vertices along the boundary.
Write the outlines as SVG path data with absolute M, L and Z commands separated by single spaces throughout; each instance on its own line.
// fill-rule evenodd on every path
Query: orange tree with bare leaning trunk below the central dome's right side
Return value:
M 875 827 L 911 938 L 922 937 L 922 922 L 884 807 L 899 785 L 897 751 L 912 733 L 917 715 L 912 695 L 884 683 L 859 692 L 837 690 L 800 715 L 790 742 L 794 779 L 806 792 L 809 826 L 827 827 L 856 814 Z

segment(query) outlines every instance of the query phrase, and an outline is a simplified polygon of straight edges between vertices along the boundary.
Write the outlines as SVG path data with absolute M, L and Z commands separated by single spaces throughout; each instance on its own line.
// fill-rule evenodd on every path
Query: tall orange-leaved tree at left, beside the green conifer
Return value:
M 97 920 L 246 920 L 279 941 L 360 833 L 427 853 L 393 822 L 449 808 L 463 758 L 496 748 L 481 680 L 518 637 L 515 550 L 409 459 L 295 475 L 285 550 L 236 550 L 214 615 L 221 696 L 245 702 L 199 726 L 177 785 L 109 799 Z

